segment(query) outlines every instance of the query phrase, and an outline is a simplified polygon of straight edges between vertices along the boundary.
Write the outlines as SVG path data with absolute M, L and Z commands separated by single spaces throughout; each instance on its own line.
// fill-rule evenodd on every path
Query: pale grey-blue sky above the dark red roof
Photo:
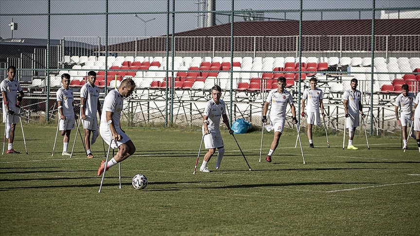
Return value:
M 198 27 L 198 4 L 204 0 L 175 0 L 175 33 L 194 30 Z M 298 13 L 284 12 L 299 9 L 300 0 L 235 0 L 234 10 L 271 11 L 264 17 L 271 20 L 299 19 Z M 377 8 L 417 7 L 420 0 L 376 0 Z M 364 9 L 372 7 L 371 0 L 303 0 L 303 9 Z M 169 10 L 172 11 L 172 0 Z M 231 0 L 216 0 L 216 11 L 231 11 Z M 142 37 L 167 34 L 167 0 L 109 0 L 108 1 L 108 36 Z M 105 0 L 51 0 L 51 38 L 62 39 L 71 36 L 105 36 L 106 17 Z M 0 37 L 10 38 L 10 22 L 18 23 L 18 30 L 13 31 L 14 38 L 47 38 L 48 0 L 0 0 Z M 7 16 L 5 16 L 7 14 Z M 79 15 L 75 15 L 79 14 Z M 80 15 L 85 14 L 85 15 Z M 90 15 L 87 15 L 90 14 Z M 138 14 L 140 18 L 134 15 Z M 237 13 L 240 15 L 240 13 Z M 379 14 L 379 13 L 378 13 Z M 28 16 L 31 15 L 31 16 Z M 358 18 L 356 11 L 324 12 L 322 19 Z M 360 14 L 361 18 L 370 18 L 371 12 Z M 320 20 L 321 13 L 303 14 L 307 20 Z M 150 20 L 150 21 L 149 21 Z M 172 33 L 172 15 L 169 17 Z M 235 21 L 244 17 L 235 17 Z M 148 21 L 144 23 L 143 21 Z M 218 16 L 217 24 L 228 23 L 228 16 Z

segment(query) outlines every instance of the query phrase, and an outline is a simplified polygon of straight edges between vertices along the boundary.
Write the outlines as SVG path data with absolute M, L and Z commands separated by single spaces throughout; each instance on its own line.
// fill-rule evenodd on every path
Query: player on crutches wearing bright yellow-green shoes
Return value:
M 363 118 L 366 117 L 363 114 L 363 106 L 362 106 L 362 93 L 357 90 L 357 79 L 353 78 L 350 81 L 350 89 L 346 90 L 343 94 L 343 101 L 344 101 L 344 113 L 346 114 L 346 126 L 344 129 L 349 129 L 349 145 L 347 149 L 349 150 L 357 150 L 358 148 L 353 146 L 353 137 L 354 132 L 356 131 L 356 127 L 359 126 L 359 112 Z M 343 142 L 344 145 L 344 142 Z M 344 147 L 344 146 L 343 146 Z

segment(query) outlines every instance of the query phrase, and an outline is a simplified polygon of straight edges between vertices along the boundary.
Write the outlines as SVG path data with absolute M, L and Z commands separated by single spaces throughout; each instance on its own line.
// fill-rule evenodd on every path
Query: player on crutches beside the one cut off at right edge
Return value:
M 407 84 L 403 84 L 401 88 L 403 92 L 395 98 L 395 116 L 397 118 L 397 124 L 402 130 L 403 150 L 405 150 L 407 149 L 408 139 L 407 126 L 410 127 L 412 124 L 411 117 L 413 116 L 413 101 L 415 96 L 409 93 Z M 398 117 L 398 110 L 400 110 L 400 118 Z M 410 133 L 410 130 L 408 133 Z

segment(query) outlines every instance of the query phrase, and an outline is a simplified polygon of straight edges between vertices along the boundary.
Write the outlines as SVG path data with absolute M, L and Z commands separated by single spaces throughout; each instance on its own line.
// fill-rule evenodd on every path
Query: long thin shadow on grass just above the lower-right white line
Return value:
M 223 188 L 251 188 L 251 187 L 285 187 L 285 186 L 303 186 L 303 185 L 360 185 L 360 184 L 378 184 L 378 183 L 342 183 L 342 182 L 308 182 L 308 183 L 270 183 L 253 185 L 227 185 L 213 187 L 197 187 L 203 189 L 223 189 Z

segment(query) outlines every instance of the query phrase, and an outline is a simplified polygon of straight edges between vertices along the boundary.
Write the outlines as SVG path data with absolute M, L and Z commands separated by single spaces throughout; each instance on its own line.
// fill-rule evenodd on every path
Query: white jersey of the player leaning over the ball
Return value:
M 118 89 L 109 91 L 104 100 L 104 106 L 101 116 L 101 127 L 107 126 L 106 124 L 106 112 L 114 113 L 112 115 L 112 123 L 116 129 L 120 128 L 121 111 L 123 110 L 123 96 L 120 95 Z

